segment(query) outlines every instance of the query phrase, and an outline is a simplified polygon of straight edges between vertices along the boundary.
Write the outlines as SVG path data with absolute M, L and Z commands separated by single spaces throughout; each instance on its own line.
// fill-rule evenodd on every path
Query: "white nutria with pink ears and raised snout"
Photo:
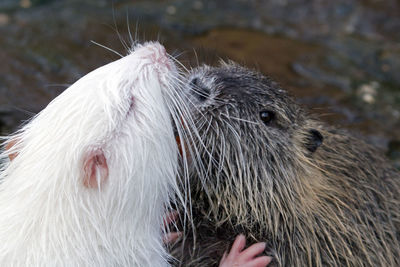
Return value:
M 7 137 L 0 266 L 168 265 L 178 80 L 163 46 L 137 45 Z

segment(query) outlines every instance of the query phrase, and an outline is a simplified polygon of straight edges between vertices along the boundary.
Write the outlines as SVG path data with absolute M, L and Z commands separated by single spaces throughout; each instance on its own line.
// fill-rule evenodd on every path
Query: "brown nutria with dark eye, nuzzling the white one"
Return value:
M 270 266 L 400 266 L 400 174 L 377 149 L 234 63 L 186 82 L 204 168 L 182 266 L 216 266 L 239 233 L 267 242 Z

